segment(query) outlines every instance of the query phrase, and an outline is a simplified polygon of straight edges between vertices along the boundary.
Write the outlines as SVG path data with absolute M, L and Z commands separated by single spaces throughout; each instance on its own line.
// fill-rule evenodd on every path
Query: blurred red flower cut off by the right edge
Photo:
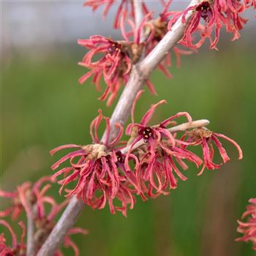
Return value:
M 242 219 L 246 222 L 238 220 L 238 233 L 243 234 L 242 237 L 236 238 L 236 241 L 251 241 L 252 249 L 256 250 L 256 198 L 249 200 L 250 205 L 246 206 L 246 211 L 242 215 Z

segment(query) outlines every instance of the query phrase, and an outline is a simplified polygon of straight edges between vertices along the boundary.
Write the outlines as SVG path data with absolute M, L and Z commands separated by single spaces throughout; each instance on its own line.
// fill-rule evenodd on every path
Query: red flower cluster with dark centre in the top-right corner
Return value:
M 172 29 L 173 24 L 176 23 L 176 20 L 180 17 L 185 23 L 188 13 L 192 12 L 192 18 L 189 20 L 187 29 L 184 32 L 184 37 L 180 41 L 181 45 L 186 45 L 189 48 L 200 48 L 208 38 L 211 43 L 211 48 L 217 48 L 222 26 L 225 27 L 228 33 L 233 34 L 233 40 L 240 37 L 239 31 L 243 29 L 247 21 L 241 17 L 241 14 L 249 7 L 255 8 L 255 3 L 255 0 L 200 1 L 198 4 L 188 7 L 182 12 L 173 12 L 168 28 Z M 196 43 L 193 42 L 195 39 L 194 34 L 199 34 L 200 37 Z M 212 34 L 214 34 L 214 38 Z

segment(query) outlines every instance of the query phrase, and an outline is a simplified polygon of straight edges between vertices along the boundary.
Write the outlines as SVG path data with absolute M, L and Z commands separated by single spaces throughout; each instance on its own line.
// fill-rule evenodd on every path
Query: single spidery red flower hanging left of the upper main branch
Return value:
M 93 83 L 96 83 L 97 89 L 100 90 L 99 82 L 103 76 L 107 89 L 105 89 L 100 99 L 109 97 L 107 105 L 111 105 L 121 84 L 127 83 L 129 78 L 132 65 L 129 59 L 129 45 L 126 41 L 114 41 L 102 36 L 79 39 L 78 44 L 89 48 L 89 52 L 86 53 L 79 64 L 91 69 L 79 79 L 79 83 L 84 83 L 89 77 L 93 76 Z M 103 53 L 104 56 L 93 62 L 92 59 L 97 53 Z

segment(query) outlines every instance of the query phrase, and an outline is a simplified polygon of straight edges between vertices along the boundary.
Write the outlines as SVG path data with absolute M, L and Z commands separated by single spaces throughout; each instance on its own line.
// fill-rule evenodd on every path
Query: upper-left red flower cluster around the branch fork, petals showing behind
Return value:
M 113 40 L 108 37 L 91 36 L 89 39 L 78 39 L 78 44 L 89 49 L 78 64 L 89 69 L 78 81 L 83 84 L 89 78 L 96 85 L 96 89 L 101 91 L 100 82 L 105 80 L 106 89 L 99 99 L 107 100 L 107 105 L 111 105 L 118 94 L 121 85 L 125 85 L 129 79 L 132 64 L 136 64 L 142 54 L 148 55 L 151 50 L 167 33 L 167 12 L 170 2 L 165 5 L 165 10 L 159 15 L 159 18 L 152 19 L 151 12 L 143 18 L 140 26 L 136 28 L 132 20 L 128 20 L 130 31 L 126 31 L 124 26 L 124 17 L 121 16 L 121 34 L 123 40 Z M 143 38 L 142 37 L 143 32 Z M 143 41 L 143 42 L 141 42 Z M 177 59 L 177 66 L 181 65 L 181 55 L 193 53 L 192 50 L 174 47 L 173 53 Z M 171 78 L 168 67 L 171 65 L 170 53 L 167 53 L 165 59 L 159 63 L 158 68 L 164 72 L 167 78 Z M 156 94 L 153 84 L 149 79 L 146 80 L 146 86 L 152 94 Z

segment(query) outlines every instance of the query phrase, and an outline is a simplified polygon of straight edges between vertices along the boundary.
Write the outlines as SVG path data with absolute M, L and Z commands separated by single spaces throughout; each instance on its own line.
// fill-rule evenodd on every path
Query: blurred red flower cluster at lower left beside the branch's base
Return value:
M 18 186 L 14 192 L 0 190 L 1 197 L 10 198 L 12 200 L 9 208 L 5 209 L 4 211 L 0 211 L 0 217 L 10 216 L 12 217 L 12 220 L 16 220 L 19 219 L 20 214 L 25 211 L 27 217 L 32 219 L 34 222 L 35 231 L 33 235 L 33 242 L 36 245 L 36 251 L 39 250 L 40 246 L 42 246 L 45 239 L 53 229 L 56 215 L 59 214 L 59 212 L 64 208 L 64 206 L 67 206 L 68 203 L 68 200 L 64 200 L 64 202 L 58 204 L 53 197 L 47 195 L 47 192 L 51 187 L 49 181 L 51 181 L 51 178 L 44 176 L 35 182 L 33 186 L 29 182 L 25 182 Z M 12 230 L 12 227 L 5 220 L 2 219 L 0 224 L 7 227 L 12 234 L 12 247 L 7 246 L 4 234 L 1 234 L 0 254 L 26 255 L 26 244 L 23 241 L 26 230 L 23 222 L 19 222 L 20 227 L 23 228 L 20 243 L 17 242 L 17 238 Z M 74 233 L 86 234 L 87 231 L 80 229 L 79 227 L 73 227 L 68 231 L 67 236 L 64 238 L 64 246 L 71 246 L 72 249 L 74 249 L 75 255 L 79 255 L 78 247 L 71 240 L 71 238 L 69 238 L 69 235 Z M 61 255 L 62 253 L 60 250 L 58 250 L 55 254 L 55 256 Z

